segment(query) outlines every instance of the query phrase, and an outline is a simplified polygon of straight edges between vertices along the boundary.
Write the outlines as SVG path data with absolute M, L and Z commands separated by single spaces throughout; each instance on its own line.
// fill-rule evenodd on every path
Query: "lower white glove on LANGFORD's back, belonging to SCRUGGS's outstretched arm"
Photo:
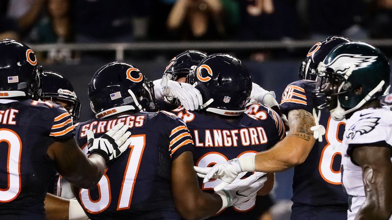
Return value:
M 222 198 L 222 211 L 229 206 L 240 207 L 245 202 L 255 202 L 257 191 L 263 186 L 267 177 L 265 173 L 255 172 L 246 179 L 236 179 L 227 185 L 223 190 L 217 191 L 216 194 Z M 263 177 L 264 176 L 264 177 Z

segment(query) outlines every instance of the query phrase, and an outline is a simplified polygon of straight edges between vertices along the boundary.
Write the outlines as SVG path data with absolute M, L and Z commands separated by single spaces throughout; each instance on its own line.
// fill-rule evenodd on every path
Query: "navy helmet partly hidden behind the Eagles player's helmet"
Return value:
M 330 36 L 314 44 L 306 54 L 305 61 L 302 62 L 298 71 L 300 79 L 316 80 L 318 63 L 323 62 L 327 54 L 337 45 L 350 41 L 345 37 Z

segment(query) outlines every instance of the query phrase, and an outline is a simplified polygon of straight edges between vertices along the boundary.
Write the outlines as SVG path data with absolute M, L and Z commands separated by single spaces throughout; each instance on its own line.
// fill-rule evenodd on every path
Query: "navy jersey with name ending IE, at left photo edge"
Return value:
M 47 148 L 75 135 L 68 112 L 52 102 L 0 100 L 0 219 L 44 219 L 56 174 Z

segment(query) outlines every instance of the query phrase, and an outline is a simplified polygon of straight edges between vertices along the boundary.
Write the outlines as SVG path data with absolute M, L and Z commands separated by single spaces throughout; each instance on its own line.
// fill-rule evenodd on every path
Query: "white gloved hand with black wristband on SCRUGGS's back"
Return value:
M 109 164 L 109 161 L 117 158 L 131 144 L 131 132 L 128 129 L 128 125 L 120 123 L 97 139 L 94 139 L 91 130 L 87 130 L 88 154 L 99 153 L 105 158 L 106 164 Z

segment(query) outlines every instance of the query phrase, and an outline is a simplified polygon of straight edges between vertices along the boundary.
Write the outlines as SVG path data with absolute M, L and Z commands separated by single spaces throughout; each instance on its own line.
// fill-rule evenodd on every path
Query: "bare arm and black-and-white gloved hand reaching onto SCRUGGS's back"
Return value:
M 128 128 L 128 125 L 117 124 L 95 140 L 89 130 L 89 158 L 83 154 L 75 139 L 54 142 L 48 147 L 47 154 L 55 161 L 61 176 L 81 188 L 90 188 L 100 181 L 109 161 L 118 157 L 131 144 Z

